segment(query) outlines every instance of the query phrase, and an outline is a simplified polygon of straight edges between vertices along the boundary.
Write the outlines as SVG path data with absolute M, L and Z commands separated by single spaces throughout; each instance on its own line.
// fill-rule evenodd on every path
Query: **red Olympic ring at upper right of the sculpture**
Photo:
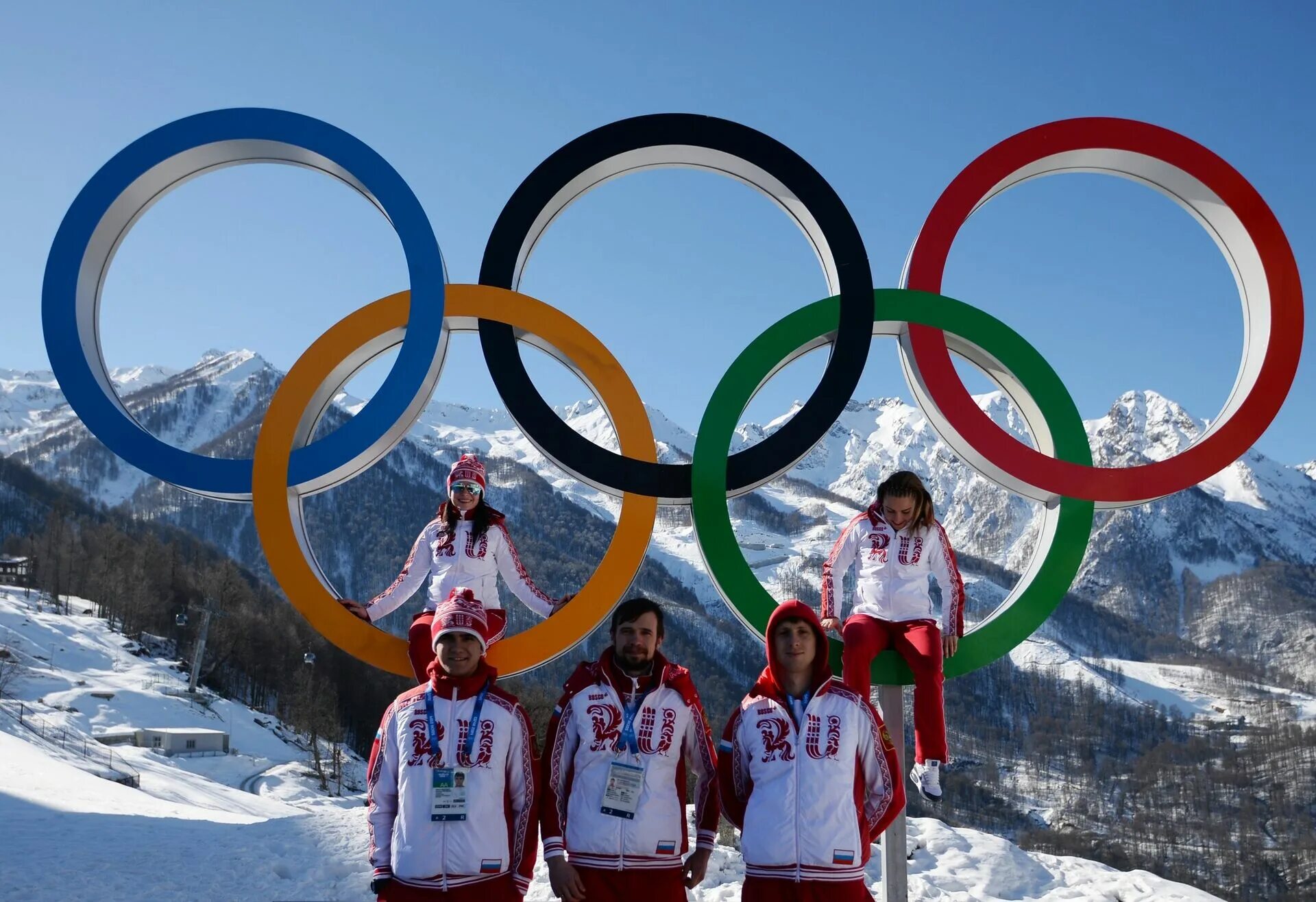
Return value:
M 1238 282 L 1245 313 L 1249 304 L 1265 304 L 1250 311 L 1255 315 L 1252 323 L 1266 328 L 1245 332 L 1244 362 L 1221 415 L 1190 448 L 1169 460 L 1130 467 L 1084 466 L 1033 450 L 982 412 L 950 362 L 941 329 L 909 325 L 912 375 L 958 433 L 958 441 L 951 442 L 955 449 L 975 450 L 978 464 L 1013 477 L 1008 479 L 1012 485 L 1105 502 L 1100 507 L 1123 507 L 1194 486 L 1255 442 L 1292 385 L 1303 341 L 1303 302 L 1288 240 L 1257 190 L 1195 141 L 1148 122 L 1070 119 L 1005 138 L 957 175 L 909 252 L 904 284 L 941 294 L 946 257 L 965 221 L 1001 191 L 1055 171 L 1123 175 L 1165 192 L 1221 248 Z

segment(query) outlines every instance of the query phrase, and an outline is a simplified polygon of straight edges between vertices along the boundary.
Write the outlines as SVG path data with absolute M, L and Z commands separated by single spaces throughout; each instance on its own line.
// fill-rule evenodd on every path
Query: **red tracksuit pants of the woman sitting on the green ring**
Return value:
M 870 665 L 878 652 L 895 648 L 913 670 L 913 760 L 946 760 L 946 714 L 942 708 L 941 629 L 933 620 L 879 620 L 851 614 L 841 627 L 841 679 L 865 698 Z

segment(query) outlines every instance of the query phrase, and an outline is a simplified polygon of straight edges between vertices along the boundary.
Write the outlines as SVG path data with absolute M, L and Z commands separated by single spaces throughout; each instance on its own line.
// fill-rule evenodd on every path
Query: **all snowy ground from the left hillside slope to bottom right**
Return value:
M 91 604 L 74 599 L 72 608 Z M 14 691 L 39 716 L 88 733 L 124 727 L 220 728 L 232 732 L 232 748 L 240 752 L 166 758 L 114 747 L 141 772 L 141 789 L 133 789 L 95 776 L 89 770 L 103 768 L 88 769 L 78 756 L 33 741 L 30 732 L 0 716 L 5 895 L 368 898 L 363 797 L 324 795 L 308 780 L 304 752 L 279 737 L 276 722 L 224 699 L 207 710 L 168 695 L 166 690 L 183 685 L 182 674 L 166 661 L 129 653 L 125 644 L 129 640 L 103 620 L 59 615 L 49 606 L 38 612 L 36 597 L 24 599 L 21 590 L 0 587 L 0 645 L 17 649 L 28 665 Z M 934 819 L 909 822 L 908 848 L 909 898 L 917 901 L 1215 898 L 1146 872 L 1024 852 L 998 836 Z M 867 869 L 875 893 L 880 857 L 875 849 Z M 719 845 L 691 898 L 734 902 L 742 880 L 738 852 Z M 549 899 L 541 860 L 526 902 Z

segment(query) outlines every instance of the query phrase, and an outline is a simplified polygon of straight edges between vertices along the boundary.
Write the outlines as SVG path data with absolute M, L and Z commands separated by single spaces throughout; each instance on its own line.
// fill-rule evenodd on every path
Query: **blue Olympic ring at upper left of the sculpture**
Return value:
M 109 262 L 151 204 L 196 175 L 253 162 L 320 170 L 365 195 L 397 233 L 411 282 L 405 337 L 388 377 L 347 423 L 292 453 L 290 482 L 326 487 L 387 452 L 401 437 L 399 424 L 417 412 L 417 399 L 429 396 L 442 362 L 446 278 L 438 241 L 411 187 L 366 144 L 317 119 L 259 108 L 199 113 L 142 136 L 92 176 L 59 224 L 46 261 L 42 328 L 55 379 L 92 435 L 133 466 L 215 498 L 251 496 L 251 460 L 180 450 L 141 428 L 109 381 L 96 317 Z

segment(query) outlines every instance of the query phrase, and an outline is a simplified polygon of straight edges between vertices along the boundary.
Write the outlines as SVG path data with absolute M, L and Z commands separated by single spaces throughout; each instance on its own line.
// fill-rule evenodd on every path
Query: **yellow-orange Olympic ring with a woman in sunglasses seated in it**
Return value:
M 251 504 L 257 535 L 275 581 L 301 616 L 342 650 L 382 670 L 411 677 L 407 641 L 357 619 L 316 575 L 293 525 L 292 506 L 301 492 L 288 486 L 288 460 L 305 444 L 321 411 L 308 410 L 320 388 L 341 377 L 343 361 L 366 344 L 407 325 L 411 292 L 400 291 L 349 313 L 315 341 L 284 377 L 270 400 L 255 444 Z M 476 317 L 507 323 L 519 336 L 576 370 L 612 420 L 621 453 L 657 462 L 653 428 L 640 395 L 607 348 L 559 309 L 516 291 L 480 284 L 450 284 L 443 319 L 450 332 L 474 332 Z M 442 348 L 443 345 L 441 345 Z M 658 514 L 658 500 L 624 494 L 617 529 L 599 569 L 575 599 L 550 619 L 508 636 L 490 649 L 488 661 L 508 677 L 551 661 L 608 616 L 644 562 Z

